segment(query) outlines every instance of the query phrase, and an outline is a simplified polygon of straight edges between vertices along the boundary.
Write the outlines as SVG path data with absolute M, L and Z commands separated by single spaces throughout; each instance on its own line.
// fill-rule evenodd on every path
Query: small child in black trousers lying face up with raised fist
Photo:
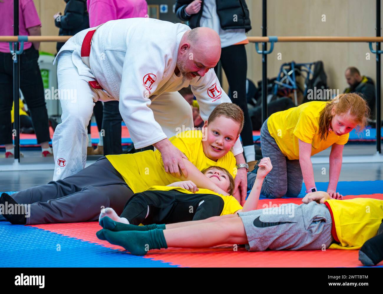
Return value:
M 262 158 L 259 162 L 254 191 L 245 203 L 245 211 L 255 209 L 258 204 L 257 186 L 262 185 L 267 173 L 272 169 L 270 158 Z M 221 167 L 208 167 L 202 173 L 219 188 L 232 194 L 234 178 Z M 100 224 L 104 217 L 123 224 L 150 225 L 147 228 L 160 227 L 176 222 L 198 221 L 213 216 L 236 214 L 242 211 L 242 206 L 233 196 L 224 196 L 208 189 L 198 189 L 192 181 L 180 181 L 168 186 L 152 186 L 148 190 L 134 194 L 126 203 L 120 216 L 108 207 L 101 211 Z

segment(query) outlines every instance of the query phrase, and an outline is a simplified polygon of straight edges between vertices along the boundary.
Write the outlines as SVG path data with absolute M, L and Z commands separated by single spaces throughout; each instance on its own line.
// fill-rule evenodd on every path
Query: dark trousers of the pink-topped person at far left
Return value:
M 38 144 L 50 141 L 43 80 L 37 63 L 39 52 L 32 46 L 20 55 L 20 88 L 31 113 Z M 13 60 L 0 52 L 0 145 L 12 144 Z

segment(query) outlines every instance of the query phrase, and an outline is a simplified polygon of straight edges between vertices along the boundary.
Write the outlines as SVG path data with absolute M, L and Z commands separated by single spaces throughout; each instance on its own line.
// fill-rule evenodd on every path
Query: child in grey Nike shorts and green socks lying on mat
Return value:
M 261 182 L 256 183 L 249 198 L 254 206 Z M 328 193 L 318 191 L 308 193 L 302 201 L 301 205 L 290 203 L 278 209 L 252 211 L 245 211 L 246 202 L 238 214 L 159 227 L 122 224 L 104 217 L 100 222 L 104 229 L 97 232 L 97 237 L 134 255 L 168 246 L 205 248 L 230 243 L 245 244 L 249 251 L 362 247 L 359 256 L 363 264 L 374 265 L 383 259 L 382 200 L 332 199 Z

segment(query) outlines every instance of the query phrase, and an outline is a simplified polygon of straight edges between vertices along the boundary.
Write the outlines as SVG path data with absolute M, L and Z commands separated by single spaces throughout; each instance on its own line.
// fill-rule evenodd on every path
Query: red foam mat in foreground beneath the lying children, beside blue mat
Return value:
M 383 194 L 346 196 L 352 198 L 376 198 L 383 200 Z M 258 208 L 264 204 L 296 203 L 301 198 L 261 199 Z M 97 222 L 82 222 L 71 224 L 41 224 L 33 225 L 39 229 L 49 230 L 68 237 L 78 238 L 87 242 L 124 250 L 109 242 L 99 240 L 96 232 L 101 229 Z M 307 251 L 264 251 L 248 252 L 244 247 L 234 250 L 233 245 L 221 245 L 213 248 L 182 249 L 168 248 L 166 250 L 151 250 L 145 256 L 152 260 L 164 261 L 183 267 L 357 267 L 362 266 L 358 261 L 358 250 L 307 250 Z M 379 264 L 383 266 L 383 262 Z

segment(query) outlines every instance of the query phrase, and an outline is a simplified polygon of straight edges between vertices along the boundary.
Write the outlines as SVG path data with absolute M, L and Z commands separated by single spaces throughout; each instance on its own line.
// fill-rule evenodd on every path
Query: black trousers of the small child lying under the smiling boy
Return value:
M 144 191 L 128 200 L 120 217 L 133 225 L 173 224 L 219 216 L 223 206 L 223 199 L 213 194 Z

